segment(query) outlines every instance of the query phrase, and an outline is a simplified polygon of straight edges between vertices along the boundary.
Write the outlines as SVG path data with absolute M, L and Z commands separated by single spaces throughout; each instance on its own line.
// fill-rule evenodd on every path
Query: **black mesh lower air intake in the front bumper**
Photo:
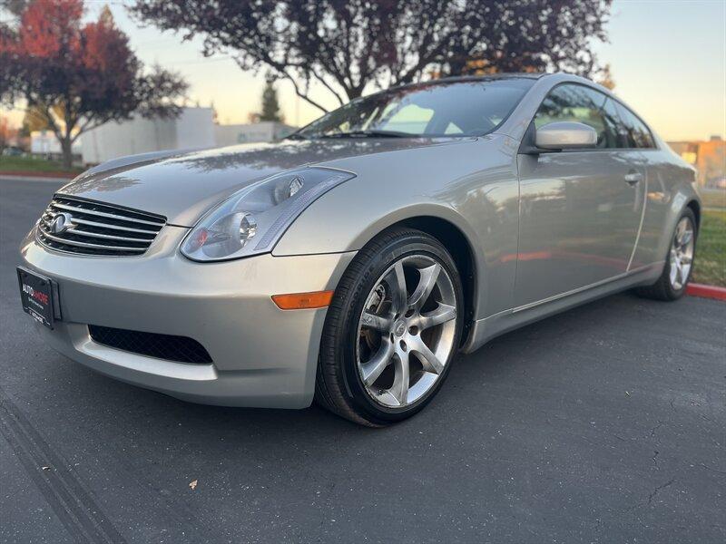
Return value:
M 204 346 L 187 336 L 157 335 L 100 325 L 88 325 L 88 332 L 98 344 L 133 354 L 179 363 L 211 363 L 211 356 Z

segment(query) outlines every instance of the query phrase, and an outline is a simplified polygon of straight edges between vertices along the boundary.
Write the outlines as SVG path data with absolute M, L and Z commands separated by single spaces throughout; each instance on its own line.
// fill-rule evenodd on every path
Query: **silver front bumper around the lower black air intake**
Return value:
M 280 310 L 270 296 L 334 289 L 355 252 L 195 263 L 166 226 L 142 257 L 81 257 L 43 248 L 34 231 L 25 267 L 58 283 L 62 318 L 37 325 L 60 353 L 93 370 L 183 400 L 303 408 L 312 402 L 326 308 Z M 93 341 L 87 325 L 188 336 L 211 364 L 137 355 Z

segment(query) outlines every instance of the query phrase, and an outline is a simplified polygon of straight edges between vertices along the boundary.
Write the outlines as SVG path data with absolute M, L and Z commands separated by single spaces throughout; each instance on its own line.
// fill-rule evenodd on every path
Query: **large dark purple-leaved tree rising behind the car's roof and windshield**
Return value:
M 201 36 L 245 70 L 318 81 L 341 99 L 441 74 L 598 69 L 612 0 L 135 0 L 143 23 Z M 295 84 L 309 98 L 309 86 Z

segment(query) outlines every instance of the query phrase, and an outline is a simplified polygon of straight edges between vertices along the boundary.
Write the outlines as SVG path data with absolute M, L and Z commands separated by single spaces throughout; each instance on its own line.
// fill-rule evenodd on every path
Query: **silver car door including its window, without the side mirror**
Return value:
M 597 147 L 518 155 L 515 307 L 623 274 L 640 227 L 643 156 L 626 149 L 612 100 L 584 85 L 558 85 L 534 119 L 536 128 L 554 121 L 592 126 Z

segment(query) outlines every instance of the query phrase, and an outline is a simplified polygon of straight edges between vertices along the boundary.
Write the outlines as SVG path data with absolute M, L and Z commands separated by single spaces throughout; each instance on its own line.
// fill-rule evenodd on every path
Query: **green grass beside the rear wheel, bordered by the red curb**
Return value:
M 726 209 L 703 211 L 692 281 L 726 287 Z

